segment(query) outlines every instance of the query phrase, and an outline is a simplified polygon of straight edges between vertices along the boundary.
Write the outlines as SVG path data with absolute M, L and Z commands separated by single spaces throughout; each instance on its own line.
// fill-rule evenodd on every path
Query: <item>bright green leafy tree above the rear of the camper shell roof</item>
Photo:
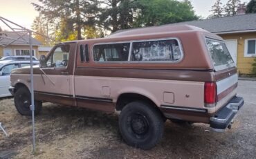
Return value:
M 137 26 L 159 26 L 196 20 L 190 1 L 140 0 Z

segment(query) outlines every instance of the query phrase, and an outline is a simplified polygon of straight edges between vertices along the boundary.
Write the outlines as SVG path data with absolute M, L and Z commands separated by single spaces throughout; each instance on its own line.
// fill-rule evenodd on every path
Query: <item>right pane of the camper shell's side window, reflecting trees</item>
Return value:
M 134 42 L 131 61 L 170 61 L 181 59 L 181 48 L 176 39 Z

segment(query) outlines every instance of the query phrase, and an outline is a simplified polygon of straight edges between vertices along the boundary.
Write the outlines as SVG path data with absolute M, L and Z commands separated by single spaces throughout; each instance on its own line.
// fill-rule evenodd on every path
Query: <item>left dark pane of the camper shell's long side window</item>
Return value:
M 128 61 L 129 43 L 102 44 L 93 47 L 93 59 L 95 62 Z

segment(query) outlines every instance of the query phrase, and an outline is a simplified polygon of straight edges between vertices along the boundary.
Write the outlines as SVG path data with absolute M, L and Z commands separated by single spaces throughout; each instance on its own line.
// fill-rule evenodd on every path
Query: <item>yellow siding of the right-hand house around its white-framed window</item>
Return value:
M 223 39 L 237 39 L 237 68 L 241 74 L 251 74 L 254 57 L 244 57 L 245 40 L 256 38 L 256 32 L 219 35 Z

